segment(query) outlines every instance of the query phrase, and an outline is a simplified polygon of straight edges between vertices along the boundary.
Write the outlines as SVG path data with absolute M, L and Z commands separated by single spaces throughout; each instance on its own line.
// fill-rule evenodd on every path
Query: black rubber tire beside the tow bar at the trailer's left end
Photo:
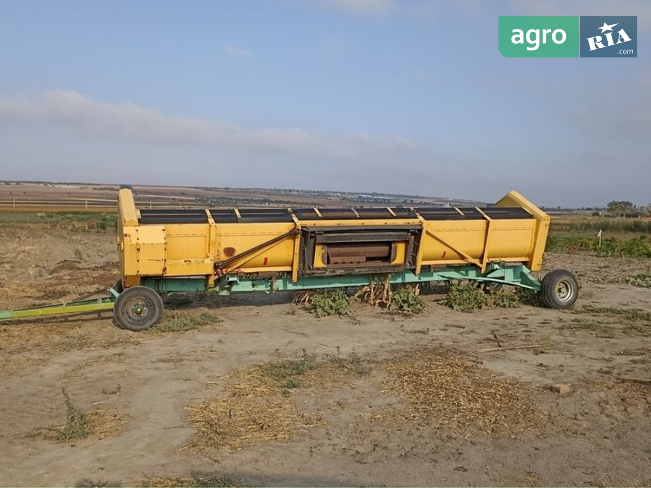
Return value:
M 129 310 L 133 306 L 134 300 L 145 306 L 150 313 L 141 318 L 134 316 Z M 133 286 L 122 291 L 115 300 L 113 321 L 120 329 L 134 332 L 144 331 L 161 321 L 164 310 L 163 299 L 156 291 L 146 286 Z

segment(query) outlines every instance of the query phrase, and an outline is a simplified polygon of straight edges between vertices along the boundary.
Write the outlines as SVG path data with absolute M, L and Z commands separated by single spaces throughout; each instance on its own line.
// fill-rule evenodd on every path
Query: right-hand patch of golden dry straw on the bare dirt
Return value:
M 475 433 L 515 435 L 542 425 L 533 388 L 448 351 L 419 351 L 388 360 L 389 392 L 406 405 L 400 414 L 469 437 Z

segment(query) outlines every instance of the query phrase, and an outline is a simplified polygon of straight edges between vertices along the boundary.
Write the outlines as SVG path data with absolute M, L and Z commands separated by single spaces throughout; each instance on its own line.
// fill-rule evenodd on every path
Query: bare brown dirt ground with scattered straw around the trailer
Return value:
M 467 314 L 434 293 L 419 316 L 317 319 L 277 294 L 168 312 L 202 314 L 189 331 L 122 331 L 110 313 L 0 323 L 0 483 L 651 485 L 651 289 L 624 280 L 649 264 L 555 267 L 579 279 L 574 310 Z M 113 230 L 0 227 L 0 309 L 115 278 Z M 495 336 L 540 347 L 482 352 Z M 62 388 L 85 439 L 56 438 Z

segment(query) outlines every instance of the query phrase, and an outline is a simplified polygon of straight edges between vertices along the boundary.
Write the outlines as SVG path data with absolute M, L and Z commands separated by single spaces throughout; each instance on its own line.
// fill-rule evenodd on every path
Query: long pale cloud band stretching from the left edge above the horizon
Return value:
M 355 161 L 387 160 L 417 150 L 415 142 L 406 137 L 367 133 L 335 137 L 300 128 L 249 129 L 232 122 L 163 115 L 133 102 L 97 102 L 65 90 L 35 98 L 0 98 L 0 120 L 65 127 L 91 138 L 213 145 Z

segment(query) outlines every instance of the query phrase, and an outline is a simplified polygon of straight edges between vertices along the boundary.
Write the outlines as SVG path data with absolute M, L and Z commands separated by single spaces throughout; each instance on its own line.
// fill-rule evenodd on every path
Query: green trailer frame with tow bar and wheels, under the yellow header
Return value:
M 59 314 L 81 314 L 113 311 L 114 321 L 122 329 L 141 331 L 156 325 L 163 316 L 161 292 L 212 291 L 219 295 L 232 293 L 276 293 L 277 291 L 307 291 L 326 288 L 357 288 L 373 283 L 391 285 L 470 280 L 492 286 L 508 285 L 538 292 L 544 305 L 550 308 L 570 308 L 577 299 L 577 282 L 569 271 L 555 269 L 538 281 L 523 264 L 489 264 L 485 273 L 475 265 L 452 265 L 440 269 L 423 269 L 419 275 L 401 271 L 389 275 L 342 275 L 301 277 L 292 282 L 290 277 L 247 278 L 237 274 L 225 275 L 207 286 L 205 277 L 197 278 L 143 278 L 140 286 L 122 290 L 118 281 L 108 288 L 109 296 L 97 299 L 44 305 L 0 312 L 0 320 L 23 319 Z

